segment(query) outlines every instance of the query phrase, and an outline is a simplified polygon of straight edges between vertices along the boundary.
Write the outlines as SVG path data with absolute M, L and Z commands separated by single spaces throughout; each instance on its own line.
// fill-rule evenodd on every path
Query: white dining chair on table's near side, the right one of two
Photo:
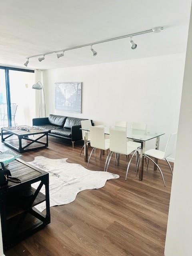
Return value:
M 128 166 L 127 166 L 127 172 L 126 172 L 126 178 L 125 178 L 125 179 L 127 179 L 128 170 L 129 170 L 129 166 L 131 164 L 132 158 L 134 157 L 134 155 L 136 153 L 138 154 L 137 147 L 128 146 L 126 131 L 121 131 L 121 130 L 116 130 L 116 129 L 111 128 L 109 137 L 110 137 L 110 152 L 106 159 L 104 171 L 107 172 L 113 153 L 118 154 L 118 161 L 119 161 L 120 154 L 128 155 L 128 154 L 133 153 L 132 157 L 128 163 Z M 136 163 L 136 166 L 137 166 L 137 163 Z

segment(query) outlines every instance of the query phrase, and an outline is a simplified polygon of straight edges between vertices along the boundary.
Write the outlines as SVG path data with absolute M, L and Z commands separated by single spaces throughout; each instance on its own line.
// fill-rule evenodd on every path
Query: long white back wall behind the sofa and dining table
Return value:
M 164 150 L 168 134 L 178 127 L 184 60 L 185 54 L 173 54 L 45 70 L 47 112 L 90 118 L 95 124 L 144 122 L 148 130 L 166 133 L 160 139 Z M 82 114 L 55 110 L 54 83 L 67 81 L 83 83 Z M 154 142 L 146 146 L 154 146 Z

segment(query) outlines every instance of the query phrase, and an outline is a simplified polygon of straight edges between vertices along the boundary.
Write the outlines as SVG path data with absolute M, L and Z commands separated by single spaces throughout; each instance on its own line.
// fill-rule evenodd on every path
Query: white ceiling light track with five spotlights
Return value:
M 110 41 L 113 41 L 113 40 L 118 40 L 118 39 L 127 38 L 127 37 L 132 38 L 132 36 L 138 36 L 138 35 L 142 35 L 142 34 L 146 34 L 146 33 L 151 33 L 151 32 L 158 33 L 158 32 L 160 32 L 163 29 L 164 29 L 164 27 L 154 27 L 154 28 L 149 29 L 149 30 L 144 30 L 144 31 L 141 31 L 141 32 L 136 32 L 136 33 L 128 34 L 128 35 L 125 35 L 125 36 L 118 36 L 118 37 L 109 38 L 109 39 L 106 39 L 106 40 L 101 40 L 101 41 L 97 41 L 97 42 L 93 42 L 93 43 L 89 43 L 89 44 L 82 44 L 82 45 L 74 46 L 74 47 L 71 47 L 71 48 L 66 48 L 66 49 L 62 49 L 62 50 L 56 50 L 56 51 L 53 51 L 53 52 L 45 52 L 43 54 L 37 54 L 37 55 L 29 56 L 29 57 L 26 58 L 27 61 L 25 62 L 24 65 L 25 66 L 28 65 L 28 60 L 30 58 L 35 58 L 35 57 L 39 57 L 39 56 L 43 55 L 43 57 L 38 58 L 38 60 L 41 62 L 42 60 L 45 59 L 44 58 L 45 55 L 52 54 L 52 53 L 56 53 L 57 54 L 58 52 L 63 52 L 63 53 L 57 54 L 57 57 L 60 58 L 60 57 L 64 56 L 64 52 L 65 51 L 74 50 L 74 49 L 78 49 L 78 48 L 82 48 L 82 47 L 86 47 L 86 46 L 91 46 L 91 51 L 92 51 L 93 50 L 92 45 L 94 45 L 94 44 L 102 44 L 102 43 L 105 43 L 105 42 L 110 42 Z M 130 44 L 131 44 L 131 48 L 132 49 L 136 49 L 137 44 L 135 44 L 132 40 L 130 41 Z M 93 51 L 92 51 L 93 56 L 96 56 L 97 52 L 95 50 L 93 50 Z

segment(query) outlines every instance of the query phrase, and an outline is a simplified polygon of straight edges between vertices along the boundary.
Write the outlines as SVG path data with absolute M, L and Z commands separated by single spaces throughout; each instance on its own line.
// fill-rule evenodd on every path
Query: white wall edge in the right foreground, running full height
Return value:
M 165 256 L 192 255 L 192 12 L 172 180 Z

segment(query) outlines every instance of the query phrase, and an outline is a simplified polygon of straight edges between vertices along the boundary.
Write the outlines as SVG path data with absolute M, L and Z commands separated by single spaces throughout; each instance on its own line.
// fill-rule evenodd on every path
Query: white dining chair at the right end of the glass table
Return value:
M 172 167 L 171 167 L 169 161 L 167 160 L 167 157 L 170 156 L 174 151 L 176 136 L 177 136 L 176 133 L 170 134 L 170 136 L 168 138 L 168 141 L 167 141 L 167 144 L 166 144 L 165 151 L 161 151 L 161 150 L 157 150 L 157 149 L 150 149 L 150 150 L 147 150 L 145 152 L 145 155 L 144 155 L 144 156 L 146 156 L 146 158 L 148 158 L 148 160 L 151 160 L 157 166 L 157 168 L 159 169 L 160 174 L 162 176 L 162 180 L 164 182 L 164 186 L 166 186 L 166 185 L 165 185 L 162 170 L 160 169 L 159 165 L 154 160 L 152 160 L 152 158 L 150 158 L 150 157 L 154 157 L 154 158 L 157 158 L 157 159 L 160 159 L 160 160 L 165 159 L 166 162 L 168 163 L 168 166 L 170 168 L 171 173 L 173 174 Z M 149 162 L 148 162 L 148 164 L 149 164 Z M 147 165 L 147 168 L 148 168 L 148 165 Z M 137 169 L 137 171 L 138 171 L 138 169 Z

